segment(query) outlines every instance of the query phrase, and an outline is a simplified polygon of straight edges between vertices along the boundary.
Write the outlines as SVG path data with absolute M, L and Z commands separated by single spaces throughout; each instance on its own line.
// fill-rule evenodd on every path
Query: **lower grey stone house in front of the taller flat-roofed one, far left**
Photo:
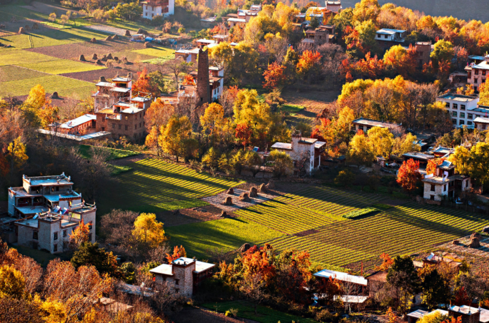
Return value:
M 72 204 L 67 210 L 54 210 L 14 222 L 19 245 L 33 249 L 45 249 L 51 254 L 63 252 L 69 237 L 83 220 L 89 224 L 89 242 L 95 242 L 95 204 Z

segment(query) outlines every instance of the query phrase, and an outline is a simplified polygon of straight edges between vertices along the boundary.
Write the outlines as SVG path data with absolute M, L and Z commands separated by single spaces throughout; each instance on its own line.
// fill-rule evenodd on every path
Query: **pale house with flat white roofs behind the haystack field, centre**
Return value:
M 304 168 L 306 174 L 311 174 L 313 170 L 321 165 L 321 153 L 325 147 L 326 142 L 302 137 L 299 132 L 292 135 L 290 143 L 275 142 L 271 149 L 286 152 L 294 162 L 295 171 L 300 171 Z

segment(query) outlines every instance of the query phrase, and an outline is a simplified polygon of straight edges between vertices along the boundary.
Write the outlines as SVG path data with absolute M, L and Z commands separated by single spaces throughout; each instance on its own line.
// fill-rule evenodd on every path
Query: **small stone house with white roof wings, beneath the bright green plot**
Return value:
M 171 264 L 161 264 L 150 270 L 156 283 L 167 283 L 170 291 L 192 297 L 200 283 L 212 276 L 213 263 L 180 257 Z

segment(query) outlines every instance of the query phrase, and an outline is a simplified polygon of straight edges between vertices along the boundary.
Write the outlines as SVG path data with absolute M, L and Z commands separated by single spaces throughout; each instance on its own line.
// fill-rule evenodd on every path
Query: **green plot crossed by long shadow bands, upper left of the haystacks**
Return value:
M 101 205 L 108 211 L 160 212 L 207 205 L 199 198 L 239 184 L 157 159 L 135 162 L 131 167 L 133 171 L 116 178 L 113 190 L 103 193 Z

